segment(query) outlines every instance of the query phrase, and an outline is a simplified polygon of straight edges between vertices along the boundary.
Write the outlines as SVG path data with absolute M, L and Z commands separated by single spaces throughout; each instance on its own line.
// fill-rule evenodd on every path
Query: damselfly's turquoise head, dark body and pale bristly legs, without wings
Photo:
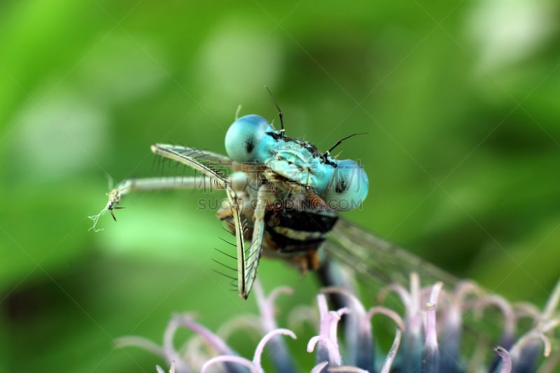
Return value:
M 261 255 L 279 257 L 301 272 L 319 267 L 318 249 L 332 230 L 339 211 L 360 206 L 367 196 L 363 167 L 353 160 L 337 160 L 302 139 L 288 137 L 259 115 L 236 118 L 225 135 L 228 156 L 196 148 L 155 143 L 155 155 L 185 164 L 202 178 L 132 178 L 109 192 L 109 211 L 130 192 L 212 188 L 225 190 L 218 218 L 235 234 L 237 290 L 251 292 Z M 223 167 L 232 172 L 226 175 Z M 102 211 L 102 212 L 104 212 Z M 94 222 L 99 216 L 92 217 Z

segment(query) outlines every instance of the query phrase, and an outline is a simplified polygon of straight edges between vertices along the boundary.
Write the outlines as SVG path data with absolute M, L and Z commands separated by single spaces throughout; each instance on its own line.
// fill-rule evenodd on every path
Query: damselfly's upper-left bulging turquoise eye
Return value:
M 262 162 L 263 149 L 274 141 L 267 132 L 274 132 L 272 126 L 260 115 L 245 115 L 230 126 L 225 134 L 225 151 L 235 162 Z M 267 137 L 263 141 L 263 137 Z

